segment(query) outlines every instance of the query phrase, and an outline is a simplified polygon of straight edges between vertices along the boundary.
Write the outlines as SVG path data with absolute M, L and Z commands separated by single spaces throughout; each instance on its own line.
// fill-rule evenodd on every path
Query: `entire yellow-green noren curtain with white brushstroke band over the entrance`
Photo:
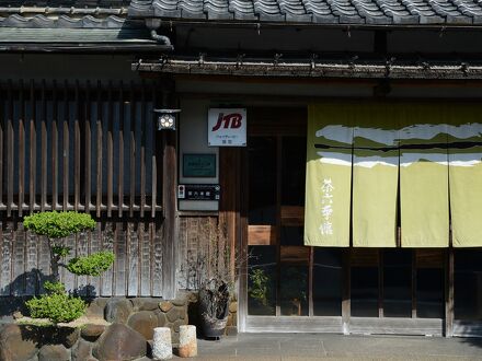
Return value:
M 394 247 L 400 224 L 402 247 L 447 247 L 451 217 L 455 247 L 482 246 L 480 110 L 311 105 L 305 244 Z

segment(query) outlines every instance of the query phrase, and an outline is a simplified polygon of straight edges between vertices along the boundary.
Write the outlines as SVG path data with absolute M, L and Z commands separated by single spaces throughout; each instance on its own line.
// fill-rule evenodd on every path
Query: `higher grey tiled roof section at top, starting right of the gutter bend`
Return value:
M 131 0 L 128 13 L 203 21 L 480 25 L 482 0 Z

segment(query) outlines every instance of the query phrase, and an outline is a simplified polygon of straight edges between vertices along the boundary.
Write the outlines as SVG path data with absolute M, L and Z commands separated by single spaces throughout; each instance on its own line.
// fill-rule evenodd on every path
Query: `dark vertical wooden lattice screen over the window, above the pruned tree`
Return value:
M 153 84 L 1 86 L 0 210 L 154 217 L 160 210 Z

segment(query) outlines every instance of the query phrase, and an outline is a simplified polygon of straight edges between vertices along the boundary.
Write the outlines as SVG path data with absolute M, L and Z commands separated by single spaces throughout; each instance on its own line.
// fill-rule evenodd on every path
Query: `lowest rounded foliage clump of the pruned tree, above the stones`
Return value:
M 85 302 L 66 293 L 43 294 L 25 302 L 32 318 L 48 318 L 54 323 L 71 322 L 83 315 Z

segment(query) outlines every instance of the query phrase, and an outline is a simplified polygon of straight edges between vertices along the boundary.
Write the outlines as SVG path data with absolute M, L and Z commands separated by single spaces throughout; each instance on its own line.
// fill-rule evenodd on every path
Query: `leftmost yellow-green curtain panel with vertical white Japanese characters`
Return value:
M 338 104 L 308 109 L 305 245 L 349 246 L 351 112 Z

